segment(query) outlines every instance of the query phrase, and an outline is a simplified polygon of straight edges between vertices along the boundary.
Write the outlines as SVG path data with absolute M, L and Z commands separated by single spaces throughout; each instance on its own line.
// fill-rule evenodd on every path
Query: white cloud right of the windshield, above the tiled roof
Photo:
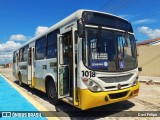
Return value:
M 160 29 L 151 29 L 149 27 L 139 27 L 138 31 L 142 34 L 147 35 L 149 38 L 154 39 L 160 37 Z

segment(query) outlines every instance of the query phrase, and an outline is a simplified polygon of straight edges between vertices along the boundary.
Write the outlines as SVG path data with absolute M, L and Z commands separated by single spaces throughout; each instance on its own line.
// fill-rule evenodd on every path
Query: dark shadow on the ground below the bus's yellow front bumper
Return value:
M 70 119 L 73 120 L 99 119 L 103 117 L 124 117 L 131 115 L 130 112 L 127 112 L 125 110 L 128 110 L 133 106 L 135 106 L 134 103 L 126 100 L 82 111 L 74 106 L 63 102 L 60 105 L 56 106 L 56 116 L 70 117 Z

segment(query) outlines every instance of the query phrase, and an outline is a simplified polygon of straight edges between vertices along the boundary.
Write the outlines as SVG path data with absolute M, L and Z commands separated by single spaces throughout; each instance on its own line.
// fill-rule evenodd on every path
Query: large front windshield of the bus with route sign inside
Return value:
M 113 30 L 86 29 L 83 62 L 98 71 L 125 71 L 137 67 L 136 43 L 132 34 Z

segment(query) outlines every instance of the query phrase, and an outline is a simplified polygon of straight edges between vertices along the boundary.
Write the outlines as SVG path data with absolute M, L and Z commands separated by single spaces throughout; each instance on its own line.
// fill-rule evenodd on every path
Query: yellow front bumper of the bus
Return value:
M 79 89 L 79 108 L 85 110 L 135 97 L 138 95 L 139 85 L 138 82 L 137 85 L 130 88 L 106 92 L 91 92 L 88 89 Z

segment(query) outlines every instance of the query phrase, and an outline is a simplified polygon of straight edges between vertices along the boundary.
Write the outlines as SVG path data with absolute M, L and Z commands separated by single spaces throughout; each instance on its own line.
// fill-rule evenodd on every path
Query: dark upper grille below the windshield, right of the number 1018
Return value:
M 117 83 L 129 80 L 133 74 L 126 75 L 126 76 L 114 76 L 114 77 L 99 77 L 105 83 Z

